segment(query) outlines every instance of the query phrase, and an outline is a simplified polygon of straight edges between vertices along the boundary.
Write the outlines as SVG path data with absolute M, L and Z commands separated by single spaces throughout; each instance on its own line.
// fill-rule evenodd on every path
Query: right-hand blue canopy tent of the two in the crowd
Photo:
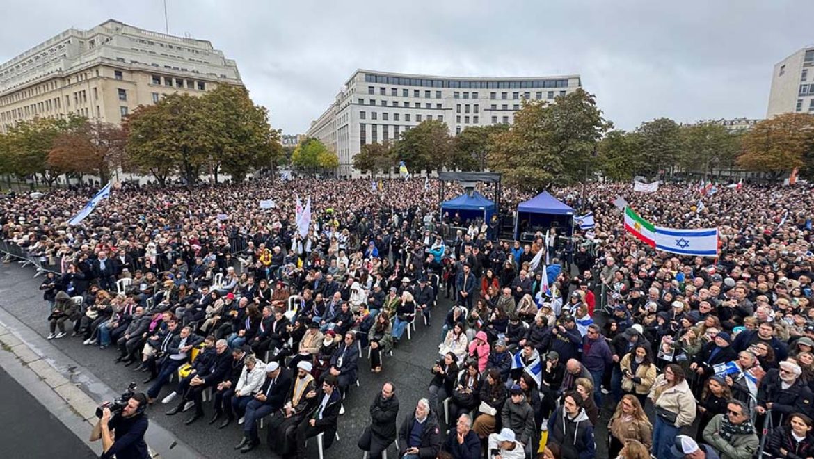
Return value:
M 559 234 L 571 235 L 571 223 L 574 217 L 574 209 L 565 203 L 561 203 L 548 191 L 543 191 L 517 206 L 517 215 L 514 217 L 514 238 L 520 238 L 523 234 L 534 234 L 540 230 L 545 233 L 551 226 L 557 226 Z

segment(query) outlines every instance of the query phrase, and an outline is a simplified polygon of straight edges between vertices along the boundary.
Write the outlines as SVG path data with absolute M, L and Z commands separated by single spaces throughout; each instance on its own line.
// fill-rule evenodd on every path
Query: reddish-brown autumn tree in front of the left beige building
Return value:
M 85 121 L 76 129 L 60 133 L 48 153 L 48 164 L 67 173 L 94 173 L 102 183 L 121 164 L 125 131 L 119 125 Z

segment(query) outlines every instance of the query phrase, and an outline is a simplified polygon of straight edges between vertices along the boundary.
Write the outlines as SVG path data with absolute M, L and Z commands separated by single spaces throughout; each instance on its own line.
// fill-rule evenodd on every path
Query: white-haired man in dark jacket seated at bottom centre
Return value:
M 401 423 L 399 430 L 399 457 L 401 459 L 431 459 L 441 448 L 438 418 L 430 410 L 427 399 L 418 400 L 415 413 Z

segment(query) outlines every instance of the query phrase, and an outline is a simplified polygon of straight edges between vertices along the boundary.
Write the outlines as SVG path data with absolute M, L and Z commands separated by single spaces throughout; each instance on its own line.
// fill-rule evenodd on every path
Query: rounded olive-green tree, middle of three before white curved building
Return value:
M 435 171 L 452 163 L 453 138 L 443 121 L 423 121 L 402 133 L 394 150 L 411 172 Z

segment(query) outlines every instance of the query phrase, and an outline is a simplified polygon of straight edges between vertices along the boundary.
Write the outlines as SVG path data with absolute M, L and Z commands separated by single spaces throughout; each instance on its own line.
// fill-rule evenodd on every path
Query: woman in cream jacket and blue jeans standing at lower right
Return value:
M 650 400 L 656 412 L 653 429 L 653 452 L 655 457 L 672 457 L 670 448 L 681 434 L 681 429 L 695 420 L 697 412 L 693 391 L 685 379 L 681 366 L 664 367 L 650 389 Z

